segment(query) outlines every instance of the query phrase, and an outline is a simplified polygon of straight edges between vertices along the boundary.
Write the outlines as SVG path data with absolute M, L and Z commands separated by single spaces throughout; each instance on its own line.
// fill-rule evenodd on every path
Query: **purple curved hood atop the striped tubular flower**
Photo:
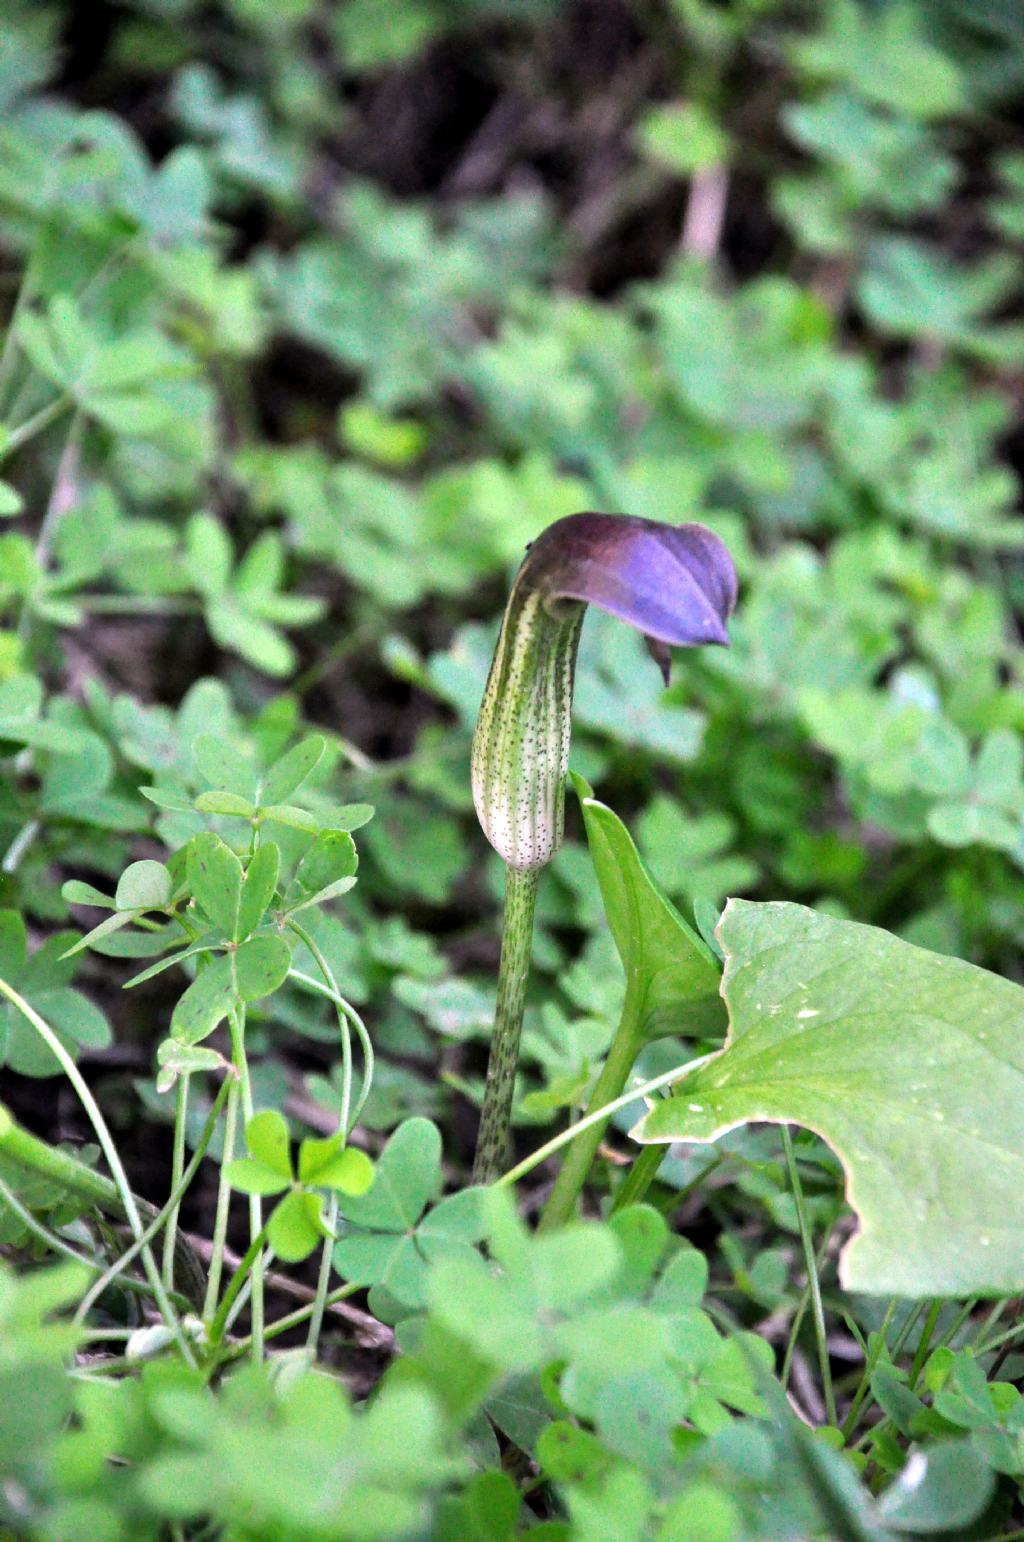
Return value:
M 534 541 L 518 581 L 549 600 L 597 604 L 655 643 L 729 641 L 736 569 L 703 524 L 571 513 Z

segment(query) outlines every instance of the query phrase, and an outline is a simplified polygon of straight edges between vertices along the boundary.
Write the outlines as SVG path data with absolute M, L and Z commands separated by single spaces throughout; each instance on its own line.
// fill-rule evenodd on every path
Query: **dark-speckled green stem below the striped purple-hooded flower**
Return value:
M 507 1160 L 509 1124 L 515 1067 L 520 1058 L 526 978 L 534 938 L 534 905 L 537 902 L 537 870 L 504 868 L 504 917 L 501 928 L 501 962 L 498 965 L 498 1001 L 487 1061 L 484 1104 L 480 1112 L 473 1183 L 493 1183 Z

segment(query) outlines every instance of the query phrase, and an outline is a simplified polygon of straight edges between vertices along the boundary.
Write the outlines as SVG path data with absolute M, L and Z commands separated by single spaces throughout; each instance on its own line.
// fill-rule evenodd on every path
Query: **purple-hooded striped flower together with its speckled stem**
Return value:
M 537 874 L 561 843 L 572 685 L 588 604 L 642 632 L 666 680 L 669 648 L 728 645 L 736 569 L 700 524 L 574 513 L 529 547 L 515 577 L 472 749 L 473 802 L 506 864 L 495 1029 L 473 1178 L 506 1155 Z

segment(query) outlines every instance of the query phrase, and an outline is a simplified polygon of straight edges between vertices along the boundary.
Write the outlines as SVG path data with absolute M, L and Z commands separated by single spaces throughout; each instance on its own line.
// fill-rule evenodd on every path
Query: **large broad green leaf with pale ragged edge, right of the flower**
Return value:
M 1024 1288 L 1024 990 L 803 905 L 734 899 L 719 925 L 725 1049 L 640 1121 L 640 1141 L 803 1124 L 847 1169 L 847 1289 Z

